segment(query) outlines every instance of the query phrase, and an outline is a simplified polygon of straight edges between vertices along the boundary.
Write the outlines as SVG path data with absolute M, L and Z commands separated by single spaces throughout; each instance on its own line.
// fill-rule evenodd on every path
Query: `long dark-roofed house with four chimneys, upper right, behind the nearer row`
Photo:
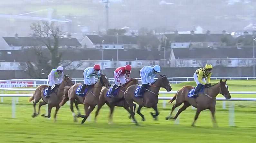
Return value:
M 211 34 L 208 30 L 206 34 L 179 34 L 176 30 L 173 34 L 164 34 L 166 42 L 171 48 L 203 48 L 220 47 L 233 44 L 233 37 L 223 30 L 222 34 Z

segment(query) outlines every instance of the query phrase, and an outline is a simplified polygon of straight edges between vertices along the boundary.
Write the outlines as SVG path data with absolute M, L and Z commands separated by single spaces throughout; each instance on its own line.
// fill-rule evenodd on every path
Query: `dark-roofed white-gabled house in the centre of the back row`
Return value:
M 81 41 L 88 49 L 157 49 L 160 41 L 156 36 L 87 35 Z

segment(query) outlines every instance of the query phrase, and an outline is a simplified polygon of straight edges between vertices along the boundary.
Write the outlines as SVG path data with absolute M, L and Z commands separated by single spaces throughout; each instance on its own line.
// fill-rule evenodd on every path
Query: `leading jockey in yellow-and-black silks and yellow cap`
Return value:
M 197 95 L 198 91 L 205 85 L 210 86 L 210 78 L 212 75 L 211 70 L 213 66 L 211 64 L 206 64 L 204 68 L 199 68 L 194 73 L 194 80 L 196 82 L 196 88 L 194 90 L 194 95 Z M 206 79 L 205 79 L 206 78 Z

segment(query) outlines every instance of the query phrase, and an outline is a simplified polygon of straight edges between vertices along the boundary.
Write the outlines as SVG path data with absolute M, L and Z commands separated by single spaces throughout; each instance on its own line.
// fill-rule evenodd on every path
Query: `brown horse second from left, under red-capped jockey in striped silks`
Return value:
M 90 100 L 91 103 L 94 103 L 97 105 L 98 100 L 99 100 L 99 94 L 102 89 L 102 86 L 109 87 L 110 83 L 108 81 L 108 78 L 100 74 L 100 79 L 90 87 L 90 90 L 87 91 L 85 97 L 81 97 L 76 94 L 76 90 L 79 86 L 81 86 L 81 83 L 77 83 L 72 85 L 71 87 L 66 86 L 65 91 L 64 91 L 64 98 L 62 99 L 62 102 L 60 103 L 60 106 L 63 106 L 66 101 L 70 100 L 70 110 L 72 112 L 73 116 L 73 121 L 77 122 L 77 117 L 83 117 L 79 111 L 78 104 L 83 104 L 84 100 Z M 73 109 L 73 104 L 75 103 L 75 106 L 78 111 L 78 115 L 75 115 L 74 109 Z

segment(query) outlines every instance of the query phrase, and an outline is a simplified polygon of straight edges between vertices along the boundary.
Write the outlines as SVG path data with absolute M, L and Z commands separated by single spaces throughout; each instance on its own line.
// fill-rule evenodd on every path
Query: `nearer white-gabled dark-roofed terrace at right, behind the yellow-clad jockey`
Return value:
M 173 48 L 170 67 L 253 66 L 253 48 Z

